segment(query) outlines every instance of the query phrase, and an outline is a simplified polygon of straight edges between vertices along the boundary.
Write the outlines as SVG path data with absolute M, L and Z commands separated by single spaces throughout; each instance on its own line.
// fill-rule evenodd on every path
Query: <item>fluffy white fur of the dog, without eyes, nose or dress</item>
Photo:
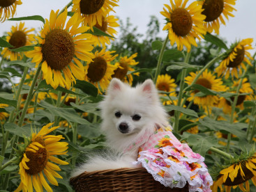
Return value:
M 125 152 L 126 148 L 146 132 L 153 134 L 156 125 L 167 125 L 167 113 L 160 104 L 158 92 L 150 79 L 135 88 L 119 79 L 112 79 L 105 99 L 100 102 L 100 109 L 103 118 L 101 130 L 112 154 L 90 157 L 89 161 L 75 170 L 72 177 L 84 171 L 134 167 L 132 162 L 137 160 L 138 148 Z M 116 118 L 116 112 L 121 113 L 121 117 Z M 133 120 L 135 114 L 141 116 L 140 120 Z M 119 131 L 122 122 L 128 125 L 128 132 L 125 134 Z M 142 141 L 144 142 L 146 141 Z

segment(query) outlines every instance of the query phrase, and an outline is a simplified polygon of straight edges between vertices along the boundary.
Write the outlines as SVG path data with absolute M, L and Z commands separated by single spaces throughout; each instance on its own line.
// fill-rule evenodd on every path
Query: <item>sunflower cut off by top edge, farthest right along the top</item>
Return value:
M 198 1 L 199 5 L 202 6 L 204 11 L 203 15 L 206 16 L 204 19 L 204 26 L 209 33 L 213 30 L 218 34 L 220 29 L 220 22 L 225 24 L 224 17 L 228 20 L 228 17 L 234 17 L 232 11 L 236 10 L 232 6 L 235 5 L 236 0 L 202 0 Z

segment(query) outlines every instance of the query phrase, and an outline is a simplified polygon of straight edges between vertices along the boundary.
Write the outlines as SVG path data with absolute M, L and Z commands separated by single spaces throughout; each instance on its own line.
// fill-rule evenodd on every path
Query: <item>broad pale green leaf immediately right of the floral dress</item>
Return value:
M 218 138 L 213 136 L 191 134 L 187 141 L 189 145 L 193 145 L 193 152 L 199 153 L 203 157 L 211 147 L 218 146 Z

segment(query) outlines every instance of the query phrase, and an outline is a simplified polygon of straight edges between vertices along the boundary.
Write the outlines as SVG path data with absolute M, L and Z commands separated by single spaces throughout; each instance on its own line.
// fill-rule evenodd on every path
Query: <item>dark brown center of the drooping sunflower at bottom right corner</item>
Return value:
M 248 163 L 248 161 L 241 161 L 241 163 L 240 163 L 241 164 L 241 169 L 243 170 L 243 173 L 244 173 L 245 176 L 241 175 L 241 170 L 239 169 L 238 174 L 234 178 L 233 182 L 231 181 L 231 179 L 229 177 L 227 177 L 226 181 L 223 184 L 226 185 L 226 186 L 236 186 L 236 185 L 239 185 L 239 184 L 243 184 L 244 182 L 253 178 L 254 177 L 253 173 L 246 167 L 247 163 Z M 236 166 L 239 166 L 239 165 L 236 165 Z

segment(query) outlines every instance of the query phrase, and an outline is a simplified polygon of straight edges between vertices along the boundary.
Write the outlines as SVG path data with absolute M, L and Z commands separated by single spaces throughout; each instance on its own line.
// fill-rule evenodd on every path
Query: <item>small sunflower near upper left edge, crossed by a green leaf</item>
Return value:
M 3 58 L 8 58 L 10 61 L 20 60 L 23 56 L 23 52 L 12 51 L 12 49 L 17 49 L 19 47 L 32 45 L 34 41 L 34 35 L 29 34 L 31 31 L 35 29 L 27 29 L 24 28 L 24 22 L 20 22 L 20 24 L 16 24 L 16 26 L 12 26 L 11 31 L 8 32 L 8 36 L 6 37 L 6 41 L 13 45 L 11 48 L 3 48 L 1 51 L 1 55 Z

